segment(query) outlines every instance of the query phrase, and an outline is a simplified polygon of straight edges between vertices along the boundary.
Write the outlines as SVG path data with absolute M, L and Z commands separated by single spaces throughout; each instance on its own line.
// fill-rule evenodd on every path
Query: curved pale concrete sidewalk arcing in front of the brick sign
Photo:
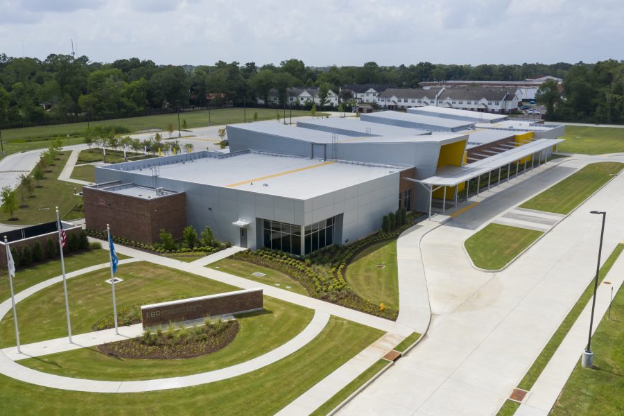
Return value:
M 225 367 L 220 370 L 191 374 L 189 376 L 169 377 L 167 379 L 140 380 L 140 381 L 99 381 L 88 379 L 75 379 L 73 377 L 57 376 L 33 370 L 23 365 L 19 365 L 0 352 L 0 373 L 36 385 L 47 388 L 57 388 L 60 390 L 73 390 L 78 392 L 92 393 L 130 393 L 130 392 L 151 392 L 157 390 L 168 390 L 171 388 L 191 387 L 205 383 L 213 383 L 240 376 L 248 372 L 259 370 L 276 361 L 285 358 L 298 349 L 304 347 L 311 340 L 316 338 L 329 322 L 329 313 L 315 311 L 314 317 L 308 326 L 295 338 L 289 340 L 284 345 L 272 351 L 253 358 L 244 363 Z

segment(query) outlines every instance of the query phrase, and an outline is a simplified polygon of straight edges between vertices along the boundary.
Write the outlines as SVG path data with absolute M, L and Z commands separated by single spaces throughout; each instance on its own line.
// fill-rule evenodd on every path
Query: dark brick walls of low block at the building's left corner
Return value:
M 84 187 L 83 202 L 87 228 L 103 231 L 110 224 L 114 236 L 141 243 L 157 242 L 162 228 L 181 239 L 187 226 L 184 193 L 144 199 Z

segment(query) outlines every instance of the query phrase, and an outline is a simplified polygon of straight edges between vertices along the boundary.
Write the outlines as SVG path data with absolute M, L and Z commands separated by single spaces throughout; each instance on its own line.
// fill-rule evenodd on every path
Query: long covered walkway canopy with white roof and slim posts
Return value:
M 556 144 L 559 144 L 563 141 L 563 139 L 538 139 L 535 141 L 530 141 L 527 144 L 523 144 L 522 146 L 518 146 L 517 148 L 513 148 L 510 150 L 506 150 L 505 152 L 497 153 L 496 155 L 492 155 L 490 157 L 486 157 L 485 159 L 480 159 L 477 162 L 465 164 L 464 166 L 442 166 L 439 168 L 434 176 L 427 177 L 423 180 L 409 179 L 413 182 L 418 182 L 422 184 L 429 191 L 429 216 L 431 216 L 431 204 L 433 199 L 433 192 L 437 191 L 444 187 L 444 198 L 442 200 L 442 212 L 446 209 L 446 191 L 447 187 L 456 187 L 455 189 L 455 200 L 457 201 L 457 186 L 458 184 L 466 183 L 466 200 L 468 200 L 469 196 L 469 180 L 478 177 L 480 180 L 481 175 L 487 173 L 488 181 L 487 181 L 487 189 L 489 189 L 489 176 L 492 174 L 492 171 L 499 171 L 499 181 L 501 183 L 501 168 L 503 166 L 508 166 L 507 169 L 507 180 L 509 180 L 510 166 L 511 164 L 516 164 L 518 167 L 519 161 L 524 159 L 524 169 L 526 172 L 526 162 L 529 156 L 539 155 L 537 158 L 538 166 L 541 164 L 541 160 L 543 157 L 541 156 L 544 150 L 548 148 L 552 148 Z M 531 158 L 531 167 L 535 162 L 535 157 Z M 516 169 L 516 176 L 518 175 Z M 479 193 L 480 184 L 477 184 L 477 195 Z M 456 202 L 457 203 L 457 202 Z

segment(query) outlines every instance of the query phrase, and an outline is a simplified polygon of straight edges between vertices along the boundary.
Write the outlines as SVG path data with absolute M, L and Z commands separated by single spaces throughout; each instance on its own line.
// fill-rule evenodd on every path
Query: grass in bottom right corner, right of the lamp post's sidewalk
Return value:
M 570 378 L 551 410 L 553 416 L 624 413 L 624 296 L 614 296 L 611 319 L 600 321 L 591 338 L 596 354 L 593 368 L 576 364 Z

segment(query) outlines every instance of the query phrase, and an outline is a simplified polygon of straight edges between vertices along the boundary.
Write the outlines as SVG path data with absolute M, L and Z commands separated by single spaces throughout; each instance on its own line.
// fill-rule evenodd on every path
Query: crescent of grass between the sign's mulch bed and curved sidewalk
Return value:
M 311 309 L 272 297 L 265 297 L 264 308 L 266 311 L 237 317 L 240 329 L 234 341 L 205 356 L 180 360 L 128 359 L 107 356 L 97 347 L 92 347 L 31 358 L 20 363 L 62 376 L 111 381 L 159 379 L 218 370 L 243 363 L 283 345 L 303 331 L 314 314 Z

